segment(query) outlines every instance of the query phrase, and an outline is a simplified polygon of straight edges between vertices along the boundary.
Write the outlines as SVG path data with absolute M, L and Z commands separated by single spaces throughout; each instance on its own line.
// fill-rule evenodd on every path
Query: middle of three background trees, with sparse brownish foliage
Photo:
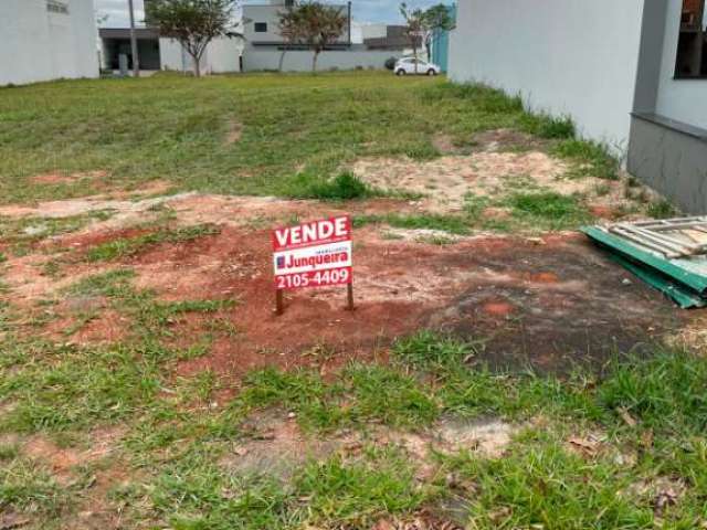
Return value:
M 347 22 L 348 15 L 340 7 L 326 6 L 315 0 L 282 12 L 279 32 L 286 46 L 303 44 L 312 50 L 312 72 L 316 72 L 319 54 L 344 34 Z

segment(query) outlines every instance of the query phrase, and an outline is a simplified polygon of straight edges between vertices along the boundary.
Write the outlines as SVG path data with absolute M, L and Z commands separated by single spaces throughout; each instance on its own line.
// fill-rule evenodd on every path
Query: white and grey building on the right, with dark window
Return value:
M 706 34 L 705 0 L 461 0 L 449 75 L 570 116 L 707 213 Z

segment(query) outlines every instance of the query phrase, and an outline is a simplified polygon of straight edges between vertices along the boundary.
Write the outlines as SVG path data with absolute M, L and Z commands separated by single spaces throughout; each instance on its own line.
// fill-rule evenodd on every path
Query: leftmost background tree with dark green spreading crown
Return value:
M 151 0 L 146 18 L 160 35 L 176 39 L 191 56 L 194 76 L 201 76 L 201 57 L 219 36 L 243 38 L 235 32 L 233 10 L 238 0 Z

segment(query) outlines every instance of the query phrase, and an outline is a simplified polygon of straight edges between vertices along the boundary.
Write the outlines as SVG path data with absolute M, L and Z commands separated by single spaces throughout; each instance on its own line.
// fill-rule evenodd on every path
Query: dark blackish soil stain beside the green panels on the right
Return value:
M 496 369 L 601 368 L 619 352 L 647 351 L 685 320 L 669 300 L 581 236 L 482 245 L 464 258 L 493 274 L 431 311 L 426 322 L 481 340 L 477 360 Z

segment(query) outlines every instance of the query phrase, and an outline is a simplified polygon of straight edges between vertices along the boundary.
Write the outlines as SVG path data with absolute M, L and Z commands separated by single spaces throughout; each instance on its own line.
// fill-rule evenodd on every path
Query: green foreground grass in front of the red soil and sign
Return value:
M 123 299 L 130 279 L 117 269 L 68 292 Z M 475 363 L 483 342 L 420 331 L 393 344 L 389 365 L 351 364 L 327 378 L 317 370 L 261 370 L 233 399 L 205 407 L 220 389 L 215 374 L 175 378 L 179 353 L 148 336 L 122 347 L 12 343 L 0 364 L 0 403 L 13 406 L 0 415 L 0 432 L 81 439 L 78 433 L 96 426 L 127 428 L 119 451 L 141 469 L 140 478 L 112 494 L 125 502 L 127 520 L 157 518 L 156 524 L 182 529 L 362 530 L 454 499 L 454 518 L 472 528 L 645 528 L 656 517 L 654 499 L 631 487 L 656 477 L 687 488 L 663 515 L 667 528 L 697 528 L 704 516 L 707 361 L 686 352 L 656 350 L 651 358 L 616 359 L 600 373 L 558 379 L 493 373 Z M 450 417 L 502 417 L 525 427 L 499 459 L 469 448 L 430 453 L 423 463 L 372 437 L 360 454 L 335 452 L 296 465 L 287 477 L 224 467 L 233 444 L 247 439 L 243 422 L 257 425 L 268 411 L 294 412 L 304 432 L 321 439 L 376 426 L 415 432 Z M 626 424 L 625 414 L 634 423 Z M 605 453 L 571 452 L 567 437 L 583 431 L 605 433 Z M 640 445 L 647 432 L 651 445 Z M 637 446 L 634 465 L 616 460 L 616 452 Z M 21 445 L 0 451 L 0 506 L 31 512 L 41 502 L 39 517 L 49 520 L 89 491 L 81 480 L 73 489 L 56 487 L 22 452 Z M 440 469 L 421 480 L 422 464 Z

